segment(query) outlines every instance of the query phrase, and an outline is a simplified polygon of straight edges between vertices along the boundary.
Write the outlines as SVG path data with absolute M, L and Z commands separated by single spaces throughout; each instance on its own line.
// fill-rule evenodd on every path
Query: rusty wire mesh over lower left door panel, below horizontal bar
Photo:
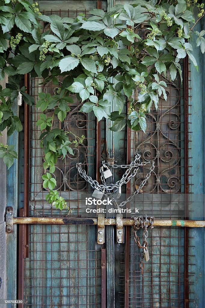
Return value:
M 86 225 L 30 226 L 24 307 L 101 307 L 101 249 L 93 237 Z

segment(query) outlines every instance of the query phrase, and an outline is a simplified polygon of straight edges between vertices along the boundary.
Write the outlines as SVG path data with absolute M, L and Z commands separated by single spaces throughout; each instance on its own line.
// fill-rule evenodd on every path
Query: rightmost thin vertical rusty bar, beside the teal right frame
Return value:
M 188 84 L 188 56 L 183 61 L 183 72 L 184 72 L 184 184 L 185 184 L 185 219 L 188 219 L 188 193 L 189 193 L 189 140 L 188 140 L 188 112 L 189 112 L 189 84 Z M 189 230 L 184 230 L 184 307 L 189 308 L 189 277 L 188 277 L 188 266 L 189 266 Z

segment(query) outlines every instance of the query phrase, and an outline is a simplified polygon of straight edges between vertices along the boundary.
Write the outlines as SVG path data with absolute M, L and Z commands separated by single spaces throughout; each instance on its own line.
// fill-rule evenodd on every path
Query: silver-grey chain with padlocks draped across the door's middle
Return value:
M 105 163 L 105 161 L 103 160 L 102 161 L 102 167 L 100 168 L 101 180 L 102 180 L 103 184 L 99 184 L 98 181 L 93 180 L 90 176 L 88 176 L 86 174 L 86 171 L 82 168 L 82 163 L 77 163 L 76 168 L 78 169 L 78 173 L 80 174 L 80 176 L 84 180 L 86 180 L 86 182 L 88 182 L 93 189 L 97 189 L 100 192 L 104 193 L 106 197 L 108 197 L 108 196 L 111 197 L 111 199 L 113 200 L 114 204 L 117 207 L 122 207 L 127 202 L 130 202 L 132 200 L 132 198 L 136 194 L 139 193 L 139 191 L 143 188 L 143 186 L 145 185 L 145 183 L 147 182 L 147 180 L 151 176 L 151 172 L 154 170 L 154 161 L 152 163 L 151 163 L 151 161 L 140 163 L 140 157 L 141 156 L 139 154 L 136 154 L 134 161 L 131 162 L 131 164 L 129 164 L 129 165 L 116 165 L 116 164 L 111 165 L 111 164 Z M 114 199 L 113 196 L 117 193 L 119 187 L 121 187 L 123 184 L 127 184 L 134 176 L 136 176 L 136 174 L 139 170 L 139 167 L 145 166 L 145 165 L 150 164 L 150 163 L 151 163 L 150 171 L 147 173 L 147 176 L 145 177 L 145 179 L 140 183 L 138 189 L 136 189 L 135 192 L 129 198 L 127 198 L 127 200 L 121 202 L 118 205 L 117 201 Z M 103 168 L 108 169 L 107 166 L 110 166 L 112 168 L 128 168 L 128 169 L 124 172 L 122 178 L 120 180 L 118 180 L 115 184 L 106 184 L 105 179 L 102 175 L 102 172 L 103 172 Z M 133 172 L 131 172 L 132 168 L 134 168 Z M 113 192 L 111 193 L 111 191 L 113 191 Z

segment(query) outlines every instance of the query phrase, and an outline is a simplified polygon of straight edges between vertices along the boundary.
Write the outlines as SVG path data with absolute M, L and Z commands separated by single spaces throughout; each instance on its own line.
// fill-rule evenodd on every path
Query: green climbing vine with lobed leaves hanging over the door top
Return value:
M 198 10 L 197 20 L 194 8 Z M 62 122 L 70 111 L 70 93 L 82 101 L 81 111 L 94 112 L 98 121 L 111 119 L 112 131 L 127 125 L 145 132 L 146 113 L 153 103 L 157 109 L 160 96 L 167 99 L 167 85 L 160 75 L 169 72 L 174 80 L 178 73 L 182 79 L 180 59 L 186 56 L 198 70 L 191 53 L 194 35 L 201 52 L 205 51 L 205 31 L 194 30 L 204 16 L 203 4 L 197 0 L 136 0 L 117 5 L 108 13 L 93 9 L 90 14 L 90 18 L 79 14 L 75 19 L 46 16 L 31 0 L 0 1 L 0 79 L 8 75 L 6 88 L 0 87 L 0 131 L 7 128 L 10 136 L 22 130 L 12 111 L 16 99 L 22 97 L 25 103 L 34 104 L 22 85 L 24 74 L 42 76 L 45 83 L 54 84 L 58 84 L 57 76 L 63 77 L 56 95 L 38 93 L 36 105 L 41 111 L 37 126 L 42 131 L 43 167 L 50 171 L 42 176 L 43 187 L 49 190 L 47 201 L 59 209 L 65 208 L 66 202 L 54 190 L 56 181 L 51 173 L 58 157 L 73 155 L 70 134 L 75 146 L 85 138 L 52 128 L 54 115 Z M 43 30 L 42 22 L 49 30 Z M 134 26 L 145 29 L 146 37 L 135 33 Z M 133 91 L 138 92 L 136 100 Z M 114 112 L 110 112 L 111 102 L 116 106 Z M 53 116 L 46 116 L 46 109 L 52 109 Z M 17 154 L 12 145 L 0 144 L 0 157 L 10 168 Z

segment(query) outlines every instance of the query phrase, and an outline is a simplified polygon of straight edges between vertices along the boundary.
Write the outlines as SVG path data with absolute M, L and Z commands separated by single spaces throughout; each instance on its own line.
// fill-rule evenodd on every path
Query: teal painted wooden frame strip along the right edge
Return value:
M 196 17 L 197 18 L 197 17 Z M 194 27 L 194 31 L 201 31 L 204 29 L 204 20 L 201 19 L 201 22 L 197 23 Z M 191 196 L 191 200 L 194 201 L 189 205 L 189 218 L 190 219 L 199 219 L 204 220 L 204 163 L 205 163 L 205 153 L 204 153 L 204 144 L 205 144 L 205 93 L 204 93 L 204 55 L 201 54 L 200 47 L 194 48 L 192 51 L 195 59 L 198 63 L 199 72 L 196 71 L 194 65 L 190 65 L 190 75 L 191 75 L 191 98 L 189 103 L 192 107 L 189 107 L 189 113 L 191 113 L 189 124 L 190 133 L 189 139 L 192 140 L 190 150 L 189 150 L 189 163 L 192 167 L 190 168 L 189 181 L 191 185 L 191 192 L 194 193 Z M 190 228 L 189 230 L 189 244 L 190 254 L 195 256 L 192 257 L 192 261 L 195 265 L 190 266 L 190 270 L 195 272 L 195 275 L 191 277 L 193 281 L 191 300 L 193 300 L 193 307 L 204 307 L 205 305 L 205 247 L 204 247 L 204 229 Z

